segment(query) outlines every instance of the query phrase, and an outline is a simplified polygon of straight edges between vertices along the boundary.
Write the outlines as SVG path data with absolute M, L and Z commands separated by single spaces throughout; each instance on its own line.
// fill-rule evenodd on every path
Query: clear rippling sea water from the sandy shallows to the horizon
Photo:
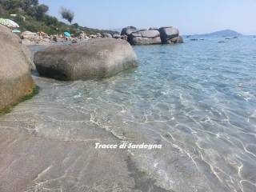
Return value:
M 134 46 L 139 67 L 102 81 L 36 78 L 37 134 L 78 141 L 96 125 L 161 143 L 129 153 L 166 190 L 256 191 L 256 38 L 219 40 Z

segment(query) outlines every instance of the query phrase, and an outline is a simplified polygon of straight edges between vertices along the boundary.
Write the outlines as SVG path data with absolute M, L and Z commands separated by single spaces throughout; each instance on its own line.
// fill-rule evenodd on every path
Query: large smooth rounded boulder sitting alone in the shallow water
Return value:
M 105 78 L 137 66 L 136 60 L 129 43 L 114 38 L 50 46 L 34 56 L 39 74 L 67 81 Z

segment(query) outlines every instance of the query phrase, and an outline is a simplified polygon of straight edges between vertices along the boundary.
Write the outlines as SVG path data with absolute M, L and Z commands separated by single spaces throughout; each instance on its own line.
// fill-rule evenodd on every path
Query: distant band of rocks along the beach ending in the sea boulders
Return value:
M 32 33 L 25 31 L 21 34 L 23 43 L 31 44 L 49 44 L 51 42 L 63 42 L 69 40 L 70 42 L 82 42 L 89 39 L 98 38 L 116 38 L 123 39 L 130 42 L 131 45 L 154 45 L 154 44 L 173 44 L 182 43 L 183 38 L 179 35 L 179 30 L 175 27 L 150 27 L 149 30 L 138 30 L 134 26 L 127 26 L 122 29 L 121 34 L 86 34 L 82 32 L 76 38 L 66 38 L 63 34 L 50 35 L 43 32 Z

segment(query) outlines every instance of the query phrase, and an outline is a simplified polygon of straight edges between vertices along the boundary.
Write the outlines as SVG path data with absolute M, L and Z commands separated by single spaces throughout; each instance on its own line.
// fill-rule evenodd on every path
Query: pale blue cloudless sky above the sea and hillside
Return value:
M 74 22 L 98 29 L 175 26 L 181 34 L 237 30 L 256 34 L 256 0 L 39 0 L 62 19 L 63 6 L 74 11 Z M 63 20 L 64 21 L 64 20 Z

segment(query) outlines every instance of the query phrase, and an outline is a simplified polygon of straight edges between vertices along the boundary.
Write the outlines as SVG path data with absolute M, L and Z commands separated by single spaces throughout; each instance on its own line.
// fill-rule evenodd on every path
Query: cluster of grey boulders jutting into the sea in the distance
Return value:
M 138 30 L 134 26 L 122 29 L 121 38 L 126 39 L 131 45 L 154 45 L 182 43 L 183 38 L 175 27 L 150 27 L 149 30 Z

